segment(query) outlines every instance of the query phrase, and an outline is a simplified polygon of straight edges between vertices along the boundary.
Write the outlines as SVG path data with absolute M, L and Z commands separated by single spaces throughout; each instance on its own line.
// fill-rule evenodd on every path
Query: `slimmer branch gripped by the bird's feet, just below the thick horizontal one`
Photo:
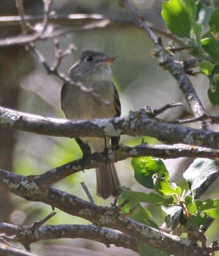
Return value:
M 32 179 L 45 188 L 68 175 L 80 172 L 81 170 L 89 170 L 97 168 L 105 161 L 114 163 L 122 161 L 130 157 L 153 156 L 162 158 L 176 157 L 206 157 L 214 159 L 219 157 L 218 150 L 211 150 L 202 147 L 190 147 L 188 145 L 139 145 L 135 147 L 119 146 L 119 148 L 108 148 L 107 159 L 104 153 L 94 153 L 82 159 L 64 164 L 42 175 L 32 176 Z

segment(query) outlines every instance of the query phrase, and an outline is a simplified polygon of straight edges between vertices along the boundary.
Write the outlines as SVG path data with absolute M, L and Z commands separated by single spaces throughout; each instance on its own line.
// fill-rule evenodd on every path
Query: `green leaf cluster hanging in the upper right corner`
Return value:
M 219 106 L 219 7 L 194 0 L 169 0 L 162 5 L 162 17 L 174 35 L 188 38 L 190 53 L 206 61 L 199 67 L 209 77 L 209 100 Z

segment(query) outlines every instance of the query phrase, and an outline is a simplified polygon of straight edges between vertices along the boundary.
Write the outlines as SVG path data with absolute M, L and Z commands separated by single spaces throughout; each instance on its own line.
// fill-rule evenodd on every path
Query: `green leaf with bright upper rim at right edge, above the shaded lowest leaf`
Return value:
M 211 56 L 212 60 L 219 64 L 219 39 L 207 37 L 201 40 L 202 47 Z

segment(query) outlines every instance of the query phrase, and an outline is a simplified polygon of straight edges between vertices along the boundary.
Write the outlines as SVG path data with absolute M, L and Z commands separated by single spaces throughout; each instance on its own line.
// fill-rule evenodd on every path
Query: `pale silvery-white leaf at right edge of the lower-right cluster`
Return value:
M 188 182 L 191 191 L 200 187 L 208 179 L 209 175 L 218 172 L 219 166 L 214 160 L 197 158 L 189 166 L 183 177 Z

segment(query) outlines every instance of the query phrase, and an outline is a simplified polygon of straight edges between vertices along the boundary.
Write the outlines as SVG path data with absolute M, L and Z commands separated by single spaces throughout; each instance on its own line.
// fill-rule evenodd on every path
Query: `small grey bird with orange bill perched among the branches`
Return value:
M 82 52 L 79 61 L 70 68 L 68 75 L 75 83 L 92 88 L 106 105 L 94 99 L 89 93 L 77 86 L 65 83 L 61 90 L 61 106 L 68 119 L 88 120 L 92 118 L 113 118 L 121 115 L 121 104 L 116 87 L 112 82 L 110 63 L 115 58 L 108 58 L 102 52 Z M 110 138 L 75 138 L 83 154 L 103 152 L 110 145 Z M 112 145 L 118 145 L 119 138 L 111 138 Z M 113 163 L 105 163 L 96 168 L 96 193 L 102 198 L 117 196 L 120 183 Z

